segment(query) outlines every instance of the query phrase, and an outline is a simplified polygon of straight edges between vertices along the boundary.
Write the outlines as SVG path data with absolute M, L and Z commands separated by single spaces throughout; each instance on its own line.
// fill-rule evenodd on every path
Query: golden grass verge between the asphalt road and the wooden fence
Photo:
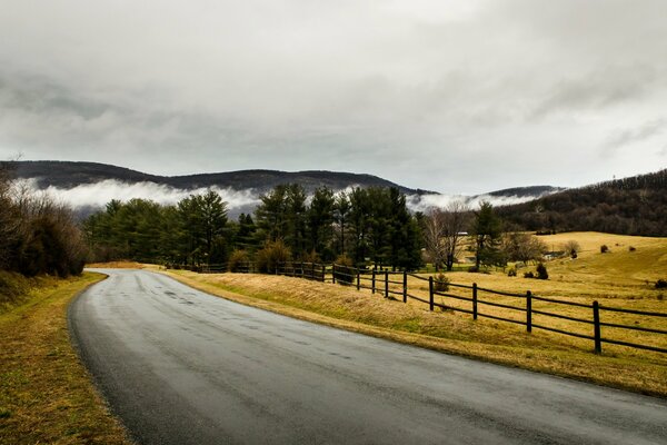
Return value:
M 207 293 L 291 317 L 476 359 L 667 397 L 667 357 L 591 346 L 546 332 L 474 322 L 354 288 L 252 274 L 168 274 Z

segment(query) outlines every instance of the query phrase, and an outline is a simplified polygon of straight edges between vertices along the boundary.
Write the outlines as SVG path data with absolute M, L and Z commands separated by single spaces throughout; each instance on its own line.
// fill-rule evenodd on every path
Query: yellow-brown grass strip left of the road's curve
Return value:
M 27 294 L 0 315 L 0 443 L 130 444 L 93 389 L 68 333 L 69 301 L 102 278 L 12 276 Z

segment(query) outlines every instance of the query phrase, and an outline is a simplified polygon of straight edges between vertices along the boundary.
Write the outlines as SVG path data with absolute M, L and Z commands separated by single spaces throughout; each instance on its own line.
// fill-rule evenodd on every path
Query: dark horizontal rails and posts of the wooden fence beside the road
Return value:
M 226 271 L 236 271 L 236 273 L 263 273 L 263 274 L 275 274 L 275 275 L 286 275 L 291 277 L 299 277 L 310 280 L 317 280 L 321 283 L 332 283 L 340 285 L 354 286 L 357 290 L 360 289 L 369 289 L 372 294 L 381 294 L 385 298 L 389 298 L 392 296 L 400 296 L 404 303 L 407 303 L 408 299 L 416 300 L 419 303 L 424 303 L 429 305 L 430 310 L 435 310 L 435 308 L 440 308 L 442 310 L 452 310 L 458 313 L 464 313 L 471 315 L 476 320 L 478 317 L 489 318 L 497 322 L 511 323 L 515 325 L 526 326 L 526 330 L 528 333 L 532 332 L 534 328 L 542 329 L 556 334 L 561 334 L 570 337 L 581 338 L 586 340 L 594 342 L 594 352 L 600 354 L 603 352 L 603 344 L 611 344 L 618 346 L 625 346 L 636 349 L 651 350 L 657 353 L 667 354 L 667 347 L 663 347 L 663 338 L 660 338 L 660 346 L 656 345 L 647 345 L 643 343 L 627 342 L 618 338 L 609 338 L 607 336 L 603 337 L 601 328 L 606 329 L 620 329 L 624 332 L 633 332 L 633 333 L 645 333 L 650 335 L 658 336 L 667 336 L 667 329 L 658 328 L 658 327 L 646 327 L 638 325 L 627 325 L 623 323 L 615 323 L 613 320 L 601 320 L 600 314 L 609 313 L 609 314 L 627 314 L 627 315 L 637 315 L 641 316 L 643 322 L 645 320 L 655 320 L 655 319 L 664 319 L 667 318 L 667 313 L 657 313 L 657 312 L 648 312 L 648 310 L 637 310 L 637 309 L 627 309 L 621 307 L 610 307 L 599 305 L 598 301 L 593 301 L 593 304 L 577 303 L 577 301 L 568 301 L 559 298 L 550 298 L 542 297 L 538 295 L 532 295 L 530 291 L 526 294 L 516 294 L 508 293 L 501 290 L 495 290 L 489 288 L 484 288 L 477 286 L 477 284 L 461 285 L 448 283 L 446 284 L 445 290 L 437 289 L 437 283 L 434 280 L 434 277 L 424 277 L 420 275 L 406 273 L 406 271 L 396 271 L 396 270 L 382 270 L 382 269 L 365 269 L 365 268 L 356 268 L 351 266 L 337 265 L 337 264 L 320 264 L 320 263 L 306 263 L 306 261 L 289 261 L 289 263 L 277 263 L 270 266 L 260 267 L 256 263 L 246 261 L 236 264 L 233 270 L 227 265 L 205 265 L 197 267 L 183 267 L 193 271 L 203 273 L 203 274 L 213 274 L 213 273 L 226 273 Z M 400 277 L 400 278 L 397 278 Z M 428 283 L 428 297 L 424 295 L 418 295 L 414 290 L 411 291 L 408 288 L 408 278 Z M 461 293 L 470 291 L 469 296 L 457 295 L 447 289 L 451 287 L 454 289 L 459 289 Z M 417 290 L 422 290 L 424 287 L 419 287 Z M 486 295 L 485 299 L 480 298 L 480 295 Z M 441 301 L 436 301 L 436 297 L 440 297 Z M 500 298 L 511 298 L 512 303 L 500 303 L 498 300 L 490 300 L 489 298 L 500 297 Z M 445 299 L 451 301 L 450 304 L 445 303 Z M 519 300 L 517 305 L 517 299 Z M 460 307 L 455 305 L 454 301 L 461 301 L 465 307 Z M 521 304 L 522 301 L 522 304 Z M 583 315 L 579 316 L 568 315 L 568 314 L 559 314 L 550 310 L 546 310 L 545 308 L 534 308 L 534 303 L 538 301 L 540 304 L 549 304 L 555 305 L 556 307 L 569 307 L 575 308 L 578 312 L 588 312 L 590 314 L 590 318 L 584 318 Z M 516 317 L 520 318 L 510 318 L 508 314 L 499 315 L 499 314 L 488 314 L 479 310 L 479 305 L 487 307 L 496 307 L 499 309 L 504 309 L 505 312 L 510 312 L 510 314 L 515 314 Z M 544 323 L 534 323 L 534 317 L 546 317 L 547 319 L 559 319 L 568 323 L 576 324 L 580 328 L 579 332 L 576 329 L 566 329 L 558 326 L 549 326 Z M 635 322 L 638 323 L 638 322 Z M 586 330 L 593 327 L 593 332 Z M 586 329 L 586 330 L 584 330 Z M 655 338 L 655 337 L 654 337 Z M 667 337 L 665 337 L 667 339 Z

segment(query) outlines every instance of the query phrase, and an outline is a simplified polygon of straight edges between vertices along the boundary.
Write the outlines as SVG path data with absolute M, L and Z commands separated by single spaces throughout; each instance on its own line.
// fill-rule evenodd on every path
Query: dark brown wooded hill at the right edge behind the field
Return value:
M 667 236 L 667 169 L 567 189 L 497 210 L 528 230 Z

